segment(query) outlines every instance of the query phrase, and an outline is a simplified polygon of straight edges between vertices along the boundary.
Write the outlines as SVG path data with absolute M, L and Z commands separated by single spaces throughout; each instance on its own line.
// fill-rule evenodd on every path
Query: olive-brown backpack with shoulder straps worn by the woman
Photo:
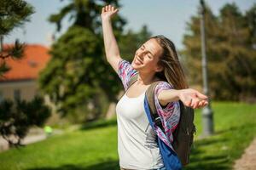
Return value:
M 137 81 L 137 76 L 138 74 L 131 77 L 130 82 L 128 82 L 128 88 L 131 87 L 131 84 Z M 154 88 L 160 82 L 161 81 L 153 82 L 146 91 L 148 109 L 150 110 L 150 117 L 148 116 L 148 121 L 149 122 L 153 121 L 158 127 L 160 127 L 162 132 L 165 133 L 164 128 L 162 126 L 162 122 L 160 120 L 160 116 L 157 114 L 157 111 L 154 105 Z M 176 129 L 172 133 L 173 135 L 172 146 L 175 153 L 177 154 L 177 157 L 179 158 L 179 161 L 184 166 L 189 164 L 189 154 L 191 150 L 191 145 L 193 144 L 194 133 L 196 131 L 195 124 L 194 124 L 195 113 L 192 108 L 183 105 L 183 102 L 181 100 L 178 100 L 178 103 L 180 105 L 180 119 Z M 160 144 L 160 141 L 159 141 L 159 144 Z M 170 151 L 172 152 L 172 150 L 169 150 L 169 154 L 167 155 L 170 155 Z

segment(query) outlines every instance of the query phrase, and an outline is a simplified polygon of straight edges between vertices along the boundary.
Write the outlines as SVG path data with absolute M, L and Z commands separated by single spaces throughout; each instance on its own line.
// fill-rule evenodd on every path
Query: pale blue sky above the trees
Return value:
M 55 32 L 55 25 L 48 21 L 50 14 L 57 13 L 70 0 L 26 0 L 32 4 L 36 13 L 32 14 L 31 21 L 22 28 L 15 29 L 4 42 L 14 42 L 16 38 L 26 43 L 39 43 L 45 46 L 50 44 L 49 37 Z M 127 20 L 125 30 L 138 31 L 143 25 L 153 35 L 162 34 L 172 40 L 178 49 L 183 48 L 183 35 L 186 32 L 186 23 L 192 15 L 197 13 L 200 0 L 121 0 L 119 14 Z M 218 14 L 225 3 L 236 3 L 241 12 L 256 3 L 256 0 L 205 0 Z M 69 22 L 64 20 L 64 26 L 57 37 L 67 30 Z

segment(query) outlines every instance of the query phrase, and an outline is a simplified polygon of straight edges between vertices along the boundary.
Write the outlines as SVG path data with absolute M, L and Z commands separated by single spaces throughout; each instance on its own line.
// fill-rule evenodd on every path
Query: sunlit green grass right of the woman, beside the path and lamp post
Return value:
M 215 134 L 196 140 L 185 169 L 231 169 L 233 162 L 256 137 L 256 105 L 215 102 L 212 109 Z M 195 123 L 201 134 L 201 111 L 196 111 Z

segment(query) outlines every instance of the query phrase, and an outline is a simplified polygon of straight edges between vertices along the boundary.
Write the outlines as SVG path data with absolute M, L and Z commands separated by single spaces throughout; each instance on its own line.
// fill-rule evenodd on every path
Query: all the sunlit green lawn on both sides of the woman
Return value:
M 256 137 L 256 105 L 214 102 L 215 134 L 199 139 L 201 111 L 195 113 L 195 147 L 185 169 L 230 169 Z M 90 123 L 20 150 L 0 153 L 0 169 L 119 169 L 116 121 Z

